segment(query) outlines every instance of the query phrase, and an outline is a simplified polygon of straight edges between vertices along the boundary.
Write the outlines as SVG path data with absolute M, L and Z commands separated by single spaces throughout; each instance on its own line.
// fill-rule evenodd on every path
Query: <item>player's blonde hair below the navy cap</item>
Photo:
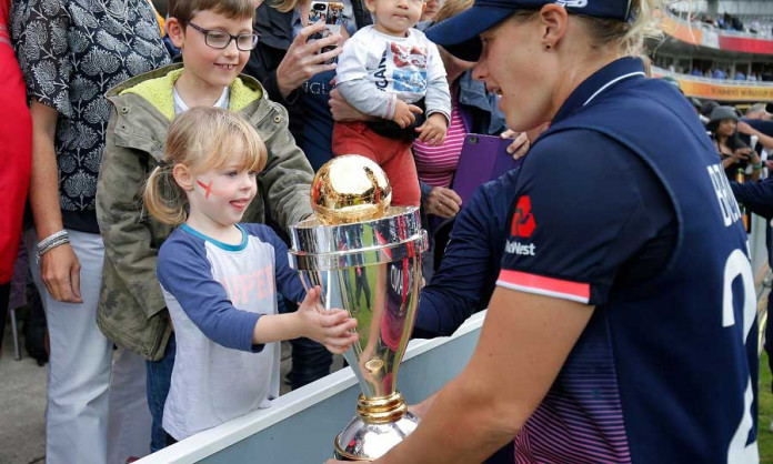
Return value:
M 593 37 L 593 48 L 608 50 L 614 47 L 620 56 L 639 57 L 644 50 L 644 40 L 660 38 L 663 32 L 660 28 L 659 17 L 655 11 L 665 11 L 665 6 L 672 0 L 631 0 L 632 21 L 625 22 L 618 19 L 594 18 L 582 14 L 572 14 L 585 23 Z M 533 10 L 519 11 L 511 18 L 525 21 L 538 12 Z

